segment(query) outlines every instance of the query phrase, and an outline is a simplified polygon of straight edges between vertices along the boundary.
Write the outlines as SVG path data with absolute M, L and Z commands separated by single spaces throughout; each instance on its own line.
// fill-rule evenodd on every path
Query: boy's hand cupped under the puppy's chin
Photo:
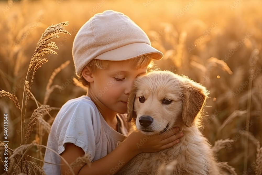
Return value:
M 137 154 L 142 152 L 157 152 L 170 148 L 179 142 L 179 138 L 184 134 L 183 132 L 176 134 L 179 128 L 172 128 L 162 134 L 144 135 L 140 131 L 132 132 L 127 139 L 130 149 Z

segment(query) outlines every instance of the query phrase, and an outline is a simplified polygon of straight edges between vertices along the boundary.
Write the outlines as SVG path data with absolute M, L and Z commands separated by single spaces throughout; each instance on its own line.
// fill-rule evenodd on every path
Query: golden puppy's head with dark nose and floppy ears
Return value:
M 128 98 L 128 121 L 152 135 L 174 126 L 190 127 L 208 97 L 205 87 L 170 71 L 151 71 L 134 81 Z

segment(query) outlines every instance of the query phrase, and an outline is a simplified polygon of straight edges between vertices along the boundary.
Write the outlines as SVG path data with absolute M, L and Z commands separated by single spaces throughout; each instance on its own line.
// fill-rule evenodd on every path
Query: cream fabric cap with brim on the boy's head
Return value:
M 163 57 L 137 24 L 113 10 L 95 14 L 79 29 L 72 52 L 78 77 L 92 59 L 122 61 L 150 55 L 153 60 L 160 60 Z

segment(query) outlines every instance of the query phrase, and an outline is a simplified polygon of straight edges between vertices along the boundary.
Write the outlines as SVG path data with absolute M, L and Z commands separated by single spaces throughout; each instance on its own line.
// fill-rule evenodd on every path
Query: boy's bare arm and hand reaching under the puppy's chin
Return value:
M 137 146 L 140 143 L 140 139 L 143 140 L 145 137 L 141 132 L 133 132 L 127 139 L 125 139 L 119 146 L 116 147 L 112 152 L 110 152 L 105 157 L 100 158 L 91 163 L 91 168 L 88 165 L 84 165 L 82 168 L 80 166 L 74 167 L 75 174 L 78 175 L 105 175 L 105 174 L 115 174 L 117 173 L 128 161 L 141 152 L 156 152 L 166 148 L 170 148 L 179 142 L 178 138 L 181 134 L 175 134 L 177 130 L 171 129 L 167 133 L 160 135 L 153 135 L 147 138 L 147 141 L 143 145 Z M 174 135 L 175 134 L 175 135 Z M 157 144 L 156 144 L 157 143 Z M 70 144 L 70 143 L 67 143 Z M 84 155 L 84 151 L 74 144 L 70 144 L 67 149 L 67 144 L 65 146 L 65 151 L 61 154 L 68 163 L 72 163 L 77 157 Z M 64 162 L 61 159 L 61 164 Z M 70 174 L 69 167 L 66 165 L 61 166 L 62 174 Z M 65 173 L 67 172 L 67 173 Z

